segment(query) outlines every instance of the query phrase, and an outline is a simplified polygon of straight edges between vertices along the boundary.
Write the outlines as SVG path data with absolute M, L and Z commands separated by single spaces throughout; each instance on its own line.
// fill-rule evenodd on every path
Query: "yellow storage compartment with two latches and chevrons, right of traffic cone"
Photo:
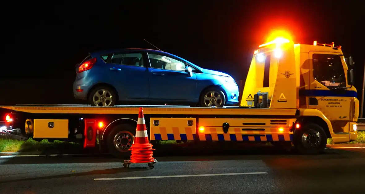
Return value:
M 195 140 L 196 118 L 151 118 L 150 140 Z

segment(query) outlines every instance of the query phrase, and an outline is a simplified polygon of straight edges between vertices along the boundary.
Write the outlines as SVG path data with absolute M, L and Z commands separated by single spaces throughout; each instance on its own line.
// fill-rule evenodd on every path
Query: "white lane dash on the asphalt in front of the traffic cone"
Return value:
M 254 172 L 254 173 L 224 173 L 224 174 L 188 174 L 188 175 L 153 176 L 153 177 L 94 178 L 94 181 L 149 179 L 149 178 L 210 177 L 210 176 L 227 176 L 227 175 L 246 175 L 246 174 L 268 174 L 268 173 Z

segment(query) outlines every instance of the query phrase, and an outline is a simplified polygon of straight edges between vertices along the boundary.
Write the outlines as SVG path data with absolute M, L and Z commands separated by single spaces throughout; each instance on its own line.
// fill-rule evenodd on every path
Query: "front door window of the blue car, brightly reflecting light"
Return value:
M 185 71 L 186 63 L 184 61 L 153 53 L 148 53 L 148 57 L 152 68 Z

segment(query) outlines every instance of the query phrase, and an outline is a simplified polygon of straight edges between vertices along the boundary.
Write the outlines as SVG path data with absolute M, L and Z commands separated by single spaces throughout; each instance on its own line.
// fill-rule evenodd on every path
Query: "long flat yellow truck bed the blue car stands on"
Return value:
M 152 106 L 152 105 L 119 105 L 113 107 L 95 107 L 88 105 L 16 105 L 0 108 L 37 114 L 136 114 L 139 108 L 145 114 L 182 114 L 182 115 L 292 115 L 296 109 L 269 109 L 239 106 L 223 108 L 199 108 L 190 106 Z

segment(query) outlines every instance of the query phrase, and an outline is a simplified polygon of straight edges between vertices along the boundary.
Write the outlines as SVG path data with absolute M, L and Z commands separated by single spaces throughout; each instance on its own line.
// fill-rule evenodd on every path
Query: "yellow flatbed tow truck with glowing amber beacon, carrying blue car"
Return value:
M 142 106 L 149 138 L 281 142 L 303 154 L 320 153 L 327 138 L 356 140 L 359 101 L 347 66 L 352 63 L 340 46 L 277 38 L 254 51 L 239 107 Z M 8 125 L 24 136 L 100 146 L 116 157 L 134 143 L 139 107 L 1 106 L 11 110 Z

